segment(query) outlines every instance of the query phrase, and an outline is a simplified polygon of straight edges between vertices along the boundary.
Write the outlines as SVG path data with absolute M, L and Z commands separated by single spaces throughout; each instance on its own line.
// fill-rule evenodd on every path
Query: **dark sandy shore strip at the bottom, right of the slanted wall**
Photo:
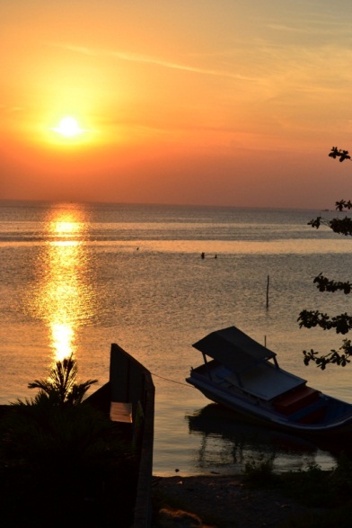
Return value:
M 161 528 L 278 528 L 321 511 L 277 489 L 249 488 L 243 476 L 154 477 L 153 499 Z

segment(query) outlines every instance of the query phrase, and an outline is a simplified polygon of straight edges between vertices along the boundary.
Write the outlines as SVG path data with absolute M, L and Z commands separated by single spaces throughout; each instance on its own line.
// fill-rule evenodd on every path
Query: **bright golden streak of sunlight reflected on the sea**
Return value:
M 38 285 L 30 301 L 31 313 L 48 327 L 53 361 L 62 361 L 75 354 L 78 327 L 92 316 L 84 210 L 53 208 L 45 228 L 47 242 L 37 262 Z

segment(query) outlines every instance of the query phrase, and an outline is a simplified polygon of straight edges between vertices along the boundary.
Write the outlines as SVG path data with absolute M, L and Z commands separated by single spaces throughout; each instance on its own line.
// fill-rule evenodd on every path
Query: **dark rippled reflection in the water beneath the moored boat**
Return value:
M 330 470 L 339 451 L 328 451 L 299 436 L 251 425 L 233 411 L 209 404 L 187 415 L 189 434 L 200 437 L 196 467 L 199 472 L 240 473 L 246 463 L 273 461 L 276 472 L 304 470 L 317 464 Z

